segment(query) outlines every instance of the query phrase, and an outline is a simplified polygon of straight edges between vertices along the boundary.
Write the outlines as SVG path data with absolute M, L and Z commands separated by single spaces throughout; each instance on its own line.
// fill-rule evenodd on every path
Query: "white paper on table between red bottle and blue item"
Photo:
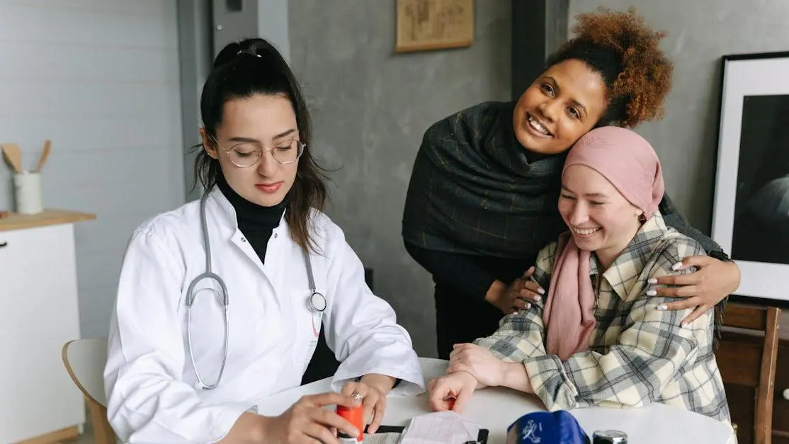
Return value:
M 414 416 L 400 444 L 463 444 L 477 441 L 480 426 L 456 412 L 434 412 Z

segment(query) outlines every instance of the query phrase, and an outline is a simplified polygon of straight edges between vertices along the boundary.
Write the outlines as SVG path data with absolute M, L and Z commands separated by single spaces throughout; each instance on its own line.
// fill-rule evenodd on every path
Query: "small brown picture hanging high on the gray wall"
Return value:
M 473 0 L 397 0 L 396 22 L 396 52 L 470 47 Z

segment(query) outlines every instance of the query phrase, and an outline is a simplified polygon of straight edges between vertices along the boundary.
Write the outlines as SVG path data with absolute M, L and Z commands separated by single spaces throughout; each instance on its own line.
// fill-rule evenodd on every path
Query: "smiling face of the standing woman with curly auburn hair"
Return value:
M 567 151 L 603 117 L 602 76 L 584 62 L 552 65 L 518 99 L 515 136 L 526 149 L 550 155 Z

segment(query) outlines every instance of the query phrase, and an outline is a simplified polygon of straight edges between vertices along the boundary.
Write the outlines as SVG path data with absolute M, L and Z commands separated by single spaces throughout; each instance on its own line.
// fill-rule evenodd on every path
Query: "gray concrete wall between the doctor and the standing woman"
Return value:
M 375 270 L 376 293 L 421 356 L 436 354 L 432 280 L 400 236 L 413 159 L 432 122 L 510 94 L 510 2 L 475 3 L 472 47 L 394 54 L 394 2 L 290 0 L 290 57 L 314 111 L 313 148 L 342 167 L 327 213 Z

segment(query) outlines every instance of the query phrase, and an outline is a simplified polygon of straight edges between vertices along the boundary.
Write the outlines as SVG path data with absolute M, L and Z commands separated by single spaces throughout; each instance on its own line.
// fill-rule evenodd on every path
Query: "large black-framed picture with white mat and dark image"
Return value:
M 740 267 L 737 295 L 789 303 L 789 52 L 722 63 L 712 238 Z

